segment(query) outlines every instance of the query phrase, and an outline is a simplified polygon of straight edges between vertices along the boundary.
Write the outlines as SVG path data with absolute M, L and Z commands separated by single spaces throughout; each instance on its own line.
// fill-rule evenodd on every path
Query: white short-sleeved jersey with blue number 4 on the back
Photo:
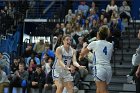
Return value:
M 113 51 L 113 44 L 105 40 L 91 42 L 87 48 L 93 51 L 93 65 L 109 65 Z

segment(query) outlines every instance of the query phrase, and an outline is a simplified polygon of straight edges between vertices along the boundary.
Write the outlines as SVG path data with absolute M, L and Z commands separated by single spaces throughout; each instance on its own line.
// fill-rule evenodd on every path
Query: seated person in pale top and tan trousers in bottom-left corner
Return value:
M 9 86 L 9 80 L 2 69 L 3 67 L 0 65 L 0 93 L 4 93 L 4 87 Z

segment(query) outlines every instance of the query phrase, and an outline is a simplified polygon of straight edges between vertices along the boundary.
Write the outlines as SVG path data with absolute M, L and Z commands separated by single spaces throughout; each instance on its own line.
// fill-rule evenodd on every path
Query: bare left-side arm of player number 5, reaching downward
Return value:
M 68 69 L 68 67 L 64 64 L 64 62 L 62 60 L 62 53 L 61 53 L 61 48 L 60 47 L 58 47 L 56 49 L 55 55 L 56 55 L 56 58 L 58 59 L 59 65 L 64 69 Z

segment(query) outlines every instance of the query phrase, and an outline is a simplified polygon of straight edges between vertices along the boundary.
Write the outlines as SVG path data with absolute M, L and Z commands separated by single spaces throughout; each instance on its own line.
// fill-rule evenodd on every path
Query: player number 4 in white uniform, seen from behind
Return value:
M 81 60 L 90 50 L 93 51 L 93 76 L 96 83 L 96 93 L 108 93 L 107 87 L 112 77 L 110 60 L 113 44 L 106 41 L 108 34 L 107 27 L 100 27 L 99 32 L 97 32 L 97 41 L 92 41 L 86 48 L 83 48 L 79 56 L 79 60 Z

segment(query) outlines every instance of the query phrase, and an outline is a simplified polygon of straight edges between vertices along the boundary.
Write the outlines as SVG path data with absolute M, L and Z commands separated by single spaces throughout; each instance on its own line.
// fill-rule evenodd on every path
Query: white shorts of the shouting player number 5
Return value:
M 71 76 L 70 71 L 64 69 L 53 69 L 52 70 L 52 77 L 53 80 L 61 80 L 63 79 L 64 82 L 73 81 L 73 77 Z

